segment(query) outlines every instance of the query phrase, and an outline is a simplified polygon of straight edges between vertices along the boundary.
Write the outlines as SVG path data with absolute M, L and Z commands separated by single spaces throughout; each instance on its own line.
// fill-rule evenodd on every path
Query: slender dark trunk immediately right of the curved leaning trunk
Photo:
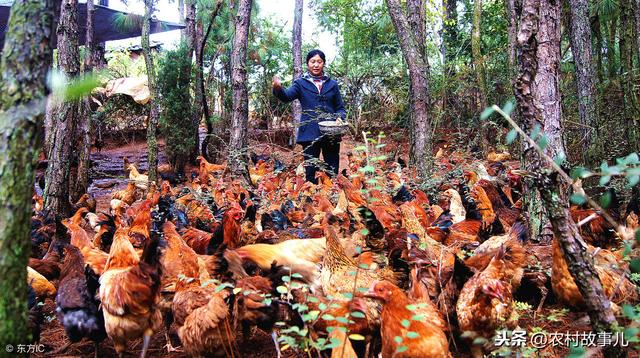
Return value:
M 457 0 L 443 0 L 444 21 L 442 24 L 442 58 L 444 61 L 444 81 L 442 91 L 442 111 L 446 123 L 451 122 L 449 106 L 452 102 L 450 83 L 455 77 L 454 61 L 458 49 L 458 9 Z

